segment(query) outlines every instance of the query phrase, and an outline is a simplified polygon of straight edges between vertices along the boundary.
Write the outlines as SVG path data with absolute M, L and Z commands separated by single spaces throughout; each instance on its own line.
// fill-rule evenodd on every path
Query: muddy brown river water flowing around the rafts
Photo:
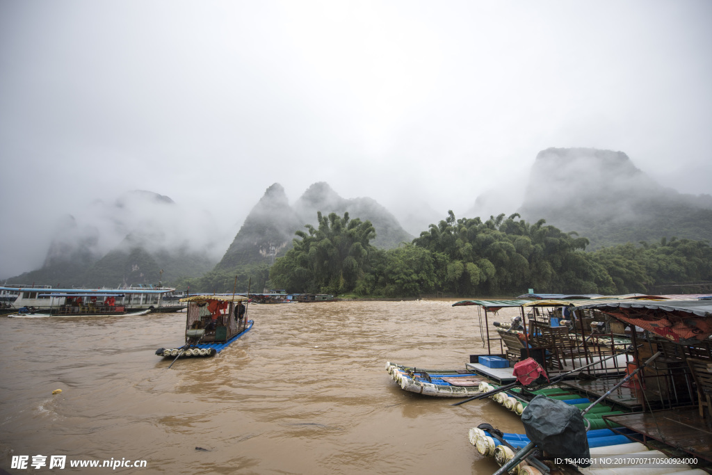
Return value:
M 450 300 L 251 305 L 255 325 L 213 358 L 182 345 L 184 313 L 0 318 L 0 468 L 11 474 L 491 474 L 468 443 L 491 400 L 400 390 L 387 361 L 462 367 L 483 353 L 475 307 Z M 501 320 L 504 320 L 501 318 Z M 61 389 L 61 394 L 52 395 Z M 64 469 L 49 468 L 66 456 Z M 27 468 L 13 457 L 28 456 Z M 46 465 L 31 466 L 34 456 Z M 42 459 L 37 459 L 42 461 Z M 70 461 L 145 461 L 72 468 Z

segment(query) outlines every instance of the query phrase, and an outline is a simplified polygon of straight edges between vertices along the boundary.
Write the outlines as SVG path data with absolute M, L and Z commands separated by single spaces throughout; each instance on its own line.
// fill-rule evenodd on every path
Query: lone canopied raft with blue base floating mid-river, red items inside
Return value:
M 247 319 L 245 296 L 192 296 L 187 302 L 185 345 L 159 348 L 162 357 L 214 356 L 247 333 L 253 320 Z

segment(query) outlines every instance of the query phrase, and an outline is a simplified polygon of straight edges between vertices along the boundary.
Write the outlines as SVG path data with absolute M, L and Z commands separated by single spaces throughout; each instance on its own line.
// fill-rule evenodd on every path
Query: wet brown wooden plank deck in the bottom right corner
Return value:
M 653 439 L 712 462 L 712 424 L 701 419 L 697 407 L 617 414 L 603 419 L 641 434 L 643 442 Z

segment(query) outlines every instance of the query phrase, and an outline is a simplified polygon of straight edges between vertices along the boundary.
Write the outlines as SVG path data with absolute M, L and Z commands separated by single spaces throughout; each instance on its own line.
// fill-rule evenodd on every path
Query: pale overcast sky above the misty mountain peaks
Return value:
M 233 235 L 274 182 L 443 218 L 498 188 L 510 213 L 548 147 L 712 193 L 711 20 L 708 0 L 0 0 L 0 278 L 131 189 Z

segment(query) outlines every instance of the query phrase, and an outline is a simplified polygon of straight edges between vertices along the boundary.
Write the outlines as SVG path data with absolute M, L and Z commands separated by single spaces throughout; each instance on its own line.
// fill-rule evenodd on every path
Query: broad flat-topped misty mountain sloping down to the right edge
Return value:
M 623 152 L 549 148 L 538 153 L 523 204 L 523 219 L 546 219 L 590 240 L 588 249 L 662 237 L 708 240 L 712 197 L 682 194 L 637 168 Z

